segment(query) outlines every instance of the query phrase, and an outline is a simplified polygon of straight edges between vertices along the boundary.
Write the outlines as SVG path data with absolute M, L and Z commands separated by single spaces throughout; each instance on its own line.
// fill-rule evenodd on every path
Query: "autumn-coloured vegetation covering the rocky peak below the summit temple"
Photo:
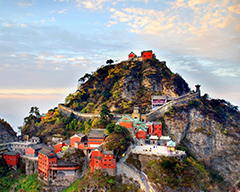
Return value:
M 111 112 L 131 113 L 133 106 L 139 106 L 142 112 L 149 110 L 151 95 L 163 92 L 143 84 L 148 80 L 156 85 L 164 85 L 176 95 L 189 91 L 188 84 L 178 74 L 173 74 L 165 62 L 156 59 L 146 62 L 121 62 L 98 68 L 92 74 L 79 79 L 79 87 L 65 99 L 65 105 L 83 113 L 100 113 L 101 106 L 107 104 Z M 127 85 L 125 85 L 125 82 Z M 134 87 L 135 83 L 137 87 Z M 125 87 L 124 87 L 125 86 Z M 124 87 L 124 88 L 123 88 Z M 131 99 L 123 97 L 123 92 L 136 92 Z

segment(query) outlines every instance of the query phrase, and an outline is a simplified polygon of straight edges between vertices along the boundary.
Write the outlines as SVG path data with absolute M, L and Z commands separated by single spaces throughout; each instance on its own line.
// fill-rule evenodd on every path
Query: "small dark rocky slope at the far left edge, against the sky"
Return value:
M 12 127 L 0 118 L 0 143 L 17 141 L 17 136 Z

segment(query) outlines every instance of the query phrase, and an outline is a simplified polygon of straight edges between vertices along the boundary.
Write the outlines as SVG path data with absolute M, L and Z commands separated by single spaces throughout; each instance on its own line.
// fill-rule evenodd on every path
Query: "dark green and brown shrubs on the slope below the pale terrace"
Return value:
M 174 157 L 150 160 L 144 171 L 159 191 L 189 188 L 217 192 L 226 191 L 228 188 L 227 183 L 214 179 L 211 173 L 191 156 L 184 161 Z

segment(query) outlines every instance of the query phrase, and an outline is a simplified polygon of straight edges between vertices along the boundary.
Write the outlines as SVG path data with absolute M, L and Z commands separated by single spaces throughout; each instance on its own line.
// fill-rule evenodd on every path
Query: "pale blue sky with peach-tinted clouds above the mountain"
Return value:
M 240 106 L 239 0 L 0 0 L 0 117 L 63 103 L 107 59 L 153 50 L 191 89 Z

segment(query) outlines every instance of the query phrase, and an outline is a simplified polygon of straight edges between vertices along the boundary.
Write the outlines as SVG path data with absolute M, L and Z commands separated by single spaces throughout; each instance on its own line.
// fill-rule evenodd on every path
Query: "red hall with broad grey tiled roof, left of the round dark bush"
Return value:
M 91 129 L 88 135 L 88 149 L 99 147 L 105 140 L 106 129 Z

